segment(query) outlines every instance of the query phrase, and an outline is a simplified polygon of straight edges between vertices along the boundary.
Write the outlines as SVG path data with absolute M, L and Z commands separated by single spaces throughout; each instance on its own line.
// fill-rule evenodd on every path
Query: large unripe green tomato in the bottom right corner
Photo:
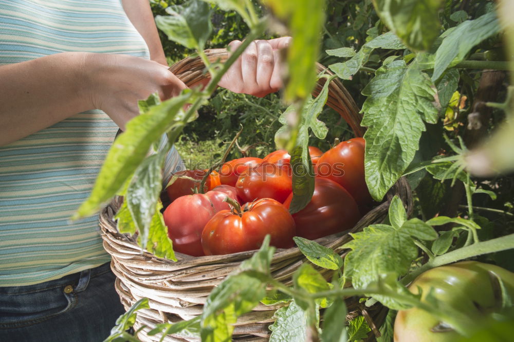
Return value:
M 412 282 L 409 290 L 417 294 L 421 289 L 423 301 L 432 288 L 433 296 L 466 315 L 478 326 L 501 308 L 501 298 L 498 297 L 498 291 L 495 291 L 493 274 L 502 279 L 506 292 L 512 298 L 514 273 L 478 261 L 462 261 L 428 270 Z M 445 327 L 444 322 L 418 308 L 398 311 L 394 323 L 396 342 L 453 342 L 460 338 L 454 330 Z

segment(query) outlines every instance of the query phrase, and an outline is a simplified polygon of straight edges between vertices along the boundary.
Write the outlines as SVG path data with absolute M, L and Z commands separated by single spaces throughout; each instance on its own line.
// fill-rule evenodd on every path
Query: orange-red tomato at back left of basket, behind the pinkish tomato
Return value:
M 166 188 L 170 201 L 173 202 L 180 196 L 192 195 L 194 192 L 191 189 L 200 186 L 201 178 L 206 174 L 207 170 L 186 170 L 180 171 L 173 175 L 175 182 Z M 180 178 L 181 176 L 190 177 L 197 179 L 195 181 L 189 178 Z M 212 171 L 205 182 L 204 192 L 214 189 L 214 187 L 221 185 L 219 180 L 219 174 L 216 171 Z

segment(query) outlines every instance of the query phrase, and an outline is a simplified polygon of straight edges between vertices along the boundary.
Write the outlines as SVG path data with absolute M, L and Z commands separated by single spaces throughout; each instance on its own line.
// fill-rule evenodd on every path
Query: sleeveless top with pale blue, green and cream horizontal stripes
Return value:
M 0 0 L 0 66 L 66 51 L 149 58 L 120 0 Z M 93 110 L 0 147 L 0 286 L 42 283 L 110 260 L 98 215 L 69 217 L 88 197 L 117 130 Z M 173 149 L 167 169 L 180 168 L 179 160 Z

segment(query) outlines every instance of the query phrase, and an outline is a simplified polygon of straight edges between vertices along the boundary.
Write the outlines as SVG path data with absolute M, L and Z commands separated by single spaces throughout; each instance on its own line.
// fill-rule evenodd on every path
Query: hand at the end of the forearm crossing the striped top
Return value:
M 86 54 L 84 70 L 91 107 L 103 110 L 122 130 L 139 114 L 138 100 L 155 92 L 165 100 L 187 88 L 167 66 L 134 56 Z

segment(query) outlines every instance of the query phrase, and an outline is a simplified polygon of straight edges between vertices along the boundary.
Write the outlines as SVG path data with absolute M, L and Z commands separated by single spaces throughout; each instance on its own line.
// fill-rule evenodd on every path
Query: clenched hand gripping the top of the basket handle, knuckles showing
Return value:
M 279 52 L 290 41 L 291 37 L 280 37 L 250 43 L 218 85 L 235 93 L 259 97 L 278 91 L 282 87 Z M 241 41 L 231 42 L 230 51 L 241 44 Z

